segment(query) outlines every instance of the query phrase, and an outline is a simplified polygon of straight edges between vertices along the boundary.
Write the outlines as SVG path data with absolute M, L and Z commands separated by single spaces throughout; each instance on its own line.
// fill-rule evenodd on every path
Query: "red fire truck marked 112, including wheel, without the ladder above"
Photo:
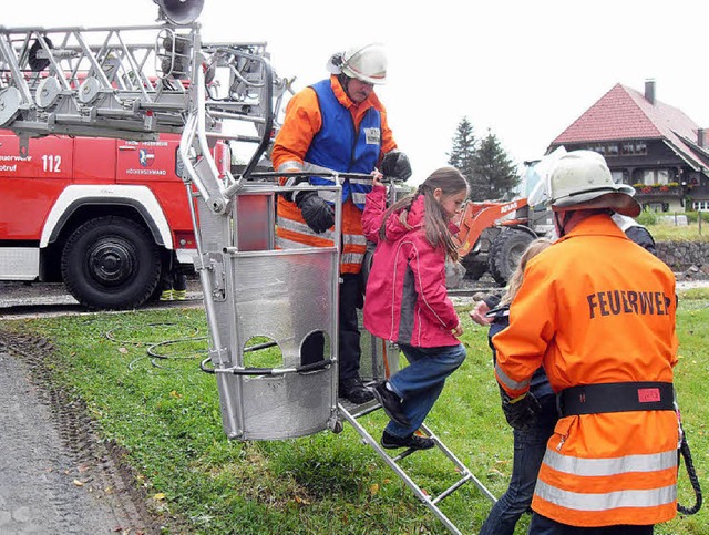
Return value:
M 95 309 L 158 295 L 195 254 L 178 145 L 176 134 L 47 136 L 21 156 L 19 138 L 0 131 L 0 280 L 63 281 Z

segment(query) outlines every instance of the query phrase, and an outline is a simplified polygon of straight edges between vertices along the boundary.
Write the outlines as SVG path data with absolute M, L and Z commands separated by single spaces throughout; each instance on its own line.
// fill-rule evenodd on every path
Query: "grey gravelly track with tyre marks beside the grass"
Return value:
M 158 533 L 119 452 L 45 380 L 50 354 L 0 330 L 0 533 Z

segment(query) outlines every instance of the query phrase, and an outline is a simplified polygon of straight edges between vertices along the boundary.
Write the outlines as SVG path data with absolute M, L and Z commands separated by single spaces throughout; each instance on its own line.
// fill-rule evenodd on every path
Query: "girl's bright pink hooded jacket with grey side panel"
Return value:
M 382 220 L 384 195 L 377 187 L 367 196 L 366 228 Z M 445 288 L 445 253 L 427 239 L 423 214 L 421 196 L 409 210 L 408 226 L 399 214 L 387 220 L 387 239 L 377 245 L 367 280 L 364 327 L 384 340 L 415 347 L 458 346 L 451 332 L 459 318 Z

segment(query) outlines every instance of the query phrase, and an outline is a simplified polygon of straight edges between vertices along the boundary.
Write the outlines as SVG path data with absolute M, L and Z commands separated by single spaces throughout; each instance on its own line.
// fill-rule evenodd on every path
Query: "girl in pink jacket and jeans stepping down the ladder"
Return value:
M 467 181 L 456 168 L 442 167 L 388 209 L 384 186 L 377 177 L 373 182 L 362 214 L 364 235 L 378 244 L 364 327 L 397 342 L 409 361 L 373 389 L 391 419 L 381 445 L 428 450 L 434 441 L 414 432 L 465 359 L 458 340 L 463 329 L 445 288 L 445 259 L 458 259 L 451 227 L 467 198 Z

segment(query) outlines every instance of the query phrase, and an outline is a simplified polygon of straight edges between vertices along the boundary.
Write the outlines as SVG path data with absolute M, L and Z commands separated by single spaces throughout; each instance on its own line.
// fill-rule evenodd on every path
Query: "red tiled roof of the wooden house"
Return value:
M 699 126 L 685 113 L 664 102 L 650 104 L 639 91 L 614 85 L 598 102 L 552 142 L 593 143 L 620 140 L 665 140 L 678 156 L 697 168 L 709 160 L 707 148 L 697 146 Z

